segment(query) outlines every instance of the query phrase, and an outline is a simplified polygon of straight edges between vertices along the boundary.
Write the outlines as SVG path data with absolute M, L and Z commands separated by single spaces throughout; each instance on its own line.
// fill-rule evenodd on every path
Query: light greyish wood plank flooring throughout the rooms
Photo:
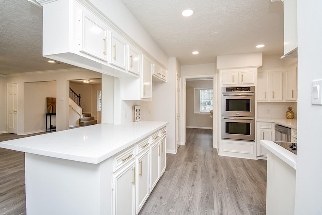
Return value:
M 0 141 L 17 137 L 0 134 Z M 218 156 L 210 129 L 188 128 L 186 145 L 167 154 L 166 172 L 140 215 L 265 214 L 265 202 L 265 160 Z M 24 153 L 0 148 L 0 215 L 5 214 L 26 214 Z

